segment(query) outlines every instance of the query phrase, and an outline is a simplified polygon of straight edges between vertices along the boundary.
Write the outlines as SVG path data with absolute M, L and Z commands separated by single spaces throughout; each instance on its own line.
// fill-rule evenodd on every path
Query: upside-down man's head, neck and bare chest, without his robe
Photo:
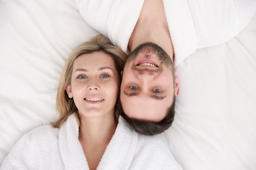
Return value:
M 175 96 L 179 94 L 162 1 L 144 2 L 129 47 L 132 52 L 123 69 L 120 90 L 123 117 L 140 133 L 161 133 L 173 122 Z M 143 126 L 148 128 L 140 128 Z

